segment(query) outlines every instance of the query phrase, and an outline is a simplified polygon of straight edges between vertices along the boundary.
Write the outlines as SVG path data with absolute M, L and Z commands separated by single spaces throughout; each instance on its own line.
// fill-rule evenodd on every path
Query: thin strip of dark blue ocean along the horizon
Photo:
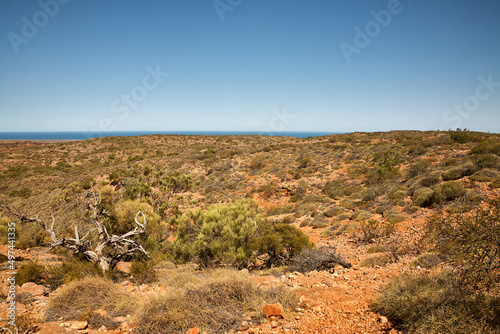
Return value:
M 113 131 L 113 132 L 0 132 L 0 140 L 84 140 L 97 137 L 133 137 L 143 135 L 264 135 L 283 137 L 319 137 L 342 132 L 238 132 L 238 131 Z

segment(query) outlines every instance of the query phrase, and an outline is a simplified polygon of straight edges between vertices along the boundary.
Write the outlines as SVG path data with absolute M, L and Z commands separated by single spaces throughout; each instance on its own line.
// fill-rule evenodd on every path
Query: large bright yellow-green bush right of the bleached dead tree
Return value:
M 177 259 L 195 260 L 205 267 L 245 267 L 261 254 L 268 254 L 268 265 L 272 265 L 310 247 L 307 236 L 294 226 L 265 220 L 253 200 L 214 205 L 205 212 L 188 211 L 174 224 Z

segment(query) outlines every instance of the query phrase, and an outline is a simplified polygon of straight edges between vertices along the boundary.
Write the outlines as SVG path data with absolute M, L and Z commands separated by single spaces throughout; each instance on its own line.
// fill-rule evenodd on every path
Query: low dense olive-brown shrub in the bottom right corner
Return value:
M 453 274 L 403 274 L 373 305 L 408 333 L 493 334 L 500 331 L 498 297 L 464 293 Z

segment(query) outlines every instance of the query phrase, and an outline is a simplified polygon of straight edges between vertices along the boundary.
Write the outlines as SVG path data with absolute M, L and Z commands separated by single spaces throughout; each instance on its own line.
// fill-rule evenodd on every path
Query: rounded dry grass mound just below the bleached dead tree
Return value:
M 111 317 L 133 314 L 137 305 L 135 297 L 120 290 L 111 281 L 100 277 L 87 277 L 70 282 L 49 299 L 45 321 L 56 321 L 60 318 L 86 320 L 95 328 L 104 320 L 111 320 Z M 105 310 L 109 319 L 98 319 L 102 318 L 95 313 L 99 309 Z

